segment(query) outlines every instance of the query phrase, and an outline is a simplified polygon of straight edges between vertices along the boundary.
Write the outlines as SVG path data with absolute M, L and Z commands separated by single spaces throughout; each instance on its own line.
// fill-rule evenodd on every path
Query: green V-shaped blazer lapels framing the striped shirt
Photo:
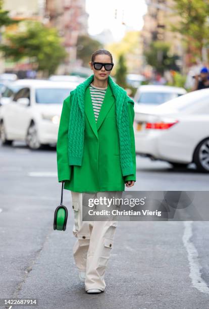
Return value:
M 92 101 L 91 101 L 90 89 L 89 89 L 89 87 L 86 88 L 84 112 L 86 114 L 88 122 L 89 122 L 94 134 L 96 135 L 97 139 L 98 139 L 98 132 L 97 131 L 100 128 L 102 122 L 105 120 L 105 118 L 106 118 L 109 110 L 113 106 L 114 102 L 115 102 L 115 97 L 112 93 L 110 85 L 108 84 L 108 88 L 106 90 L 105 97 L 103 99 L 101 109 L 99 111 L 99 116 L 98 116 L 97 122 L 96 122 L 94 112 L 93 112 L 93 105 L 92 105 Z

